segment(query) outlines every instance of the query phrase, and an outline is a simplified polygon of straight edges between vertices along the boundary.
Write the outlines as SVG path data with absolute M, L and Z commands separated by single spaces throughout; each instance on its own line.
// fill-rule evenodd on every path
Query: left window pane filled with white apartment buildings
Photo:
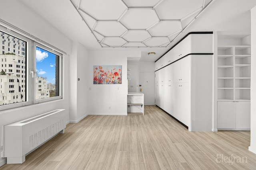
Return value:
M 17 66 L 20 65 L 18 63 L 19 60 L 25 61 L 22 65 L 26 67 L 27 61 L 27 41 L 17 38 L 13 35 L 0 31 L 0 41 L 6 42 L 3 43 L 3 53 L 0 55 L 0 84 L 1 84 L 1 97 L 0 97 L 0 106 L 26 102 L 26 73 L 25 68 L 20 69 Z M 18 47 L 22 46 L 25 49 L 24 55 L 18 54 Z M 14 53 L 10 53 L 9 49 L 12 48 L 11 51 Z M 16 49 L 16 50 L 15 50 Z M 16 51 L 16 52 L 15 52 Z M 8 69 L 6 67 L 8 66 Z M 20 70 L 23 73 L 20 73 Z M 22 76 L 20 76 L 22 75 Z M 18 96 L 18 98 L 14 98 L 12 96 Z

